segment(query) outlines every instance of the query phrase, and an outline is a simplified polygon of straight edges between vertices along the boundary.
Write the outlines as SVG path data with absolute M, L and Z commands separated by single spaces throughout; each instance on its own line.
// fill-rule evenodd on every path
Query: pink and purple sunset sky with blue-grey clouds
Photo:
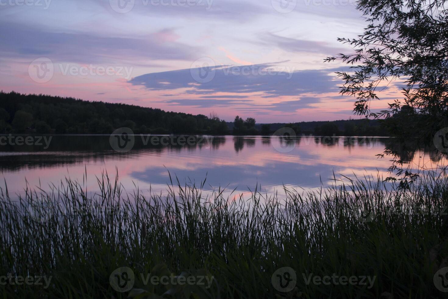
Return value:
M 0 25 L 3 91 L 263 123 L 353 117 L 323 59 L 366 23 L 349 0 L 0 0 Z

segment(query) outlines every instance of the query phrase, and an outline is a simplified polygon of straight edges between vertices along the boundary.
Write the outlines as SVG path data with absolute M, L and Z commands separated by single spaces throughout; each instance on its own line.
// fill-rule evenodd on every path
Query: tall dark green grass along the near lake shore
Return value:
M 162 298 L 149 294 L 162 296 L 169 287 L 145 285 L 140 277 L 160 267 L 214 277 L 207 290 L 177 288 L 163 298 L 448 294 L 433 283 L 435 272 L 448 266 L 445 173 L 428 174 L 406 191 L 364 178 L 306 195 L 285 188 L 282 199 L 259 191 L 224 198 L 222 190 L 202 191 L 203 184 L 172 185 L 165 195 L 145 198 L 138 189 L 125 193 L 107 174 L 98 183 L 95 195 L 70 179 L 47 193 L 26 189 L 19 199 L 1 190 L 0 276 L 52 276 L 48 288 L 0 285 L 1 298 L 126 298 L 139 292 L 139 298 Z M 122 266 L 134 271 L 134 289 L 141 290 L 112 288 L 109 276 Z M 281 267 L 297 273 L 290 292 L 271 282 Z M 370 276 L 375 283 L 306 284 L 311 273 Z

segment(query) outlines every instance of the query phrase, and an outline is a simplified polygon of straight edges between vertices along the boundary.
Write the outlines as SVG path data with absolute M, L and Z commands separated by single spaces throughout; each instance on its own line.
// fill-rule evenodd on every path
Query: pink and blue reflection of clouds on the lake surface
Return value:
M 22 190 L 25 178 L 30 186 L 38 186 L 39 179 L 42 186 L 49 182 L 57 183 L 61 178 L 69 176 L 82 181 L 87 169 L 87 186 L 91 191 L 98 190 L 95 175 L 107 170 L 109 175 L 118 170 L 119 179 L 126 191 L 135 188 L 148 194 L 149 188 L 156 193 L 164 193 L 169 183 L 168 170 L 173 182 L 177 184 L 175 176 L 181 185 L 185 183 L 200 183 L 207 178 L 204 190 L 217 190 L 226 187 L 224 194 L 230 195 L 236 188 L 235 194 L 258 190 L 261 193 L 283 193 L 283 185 L 290 189 L 300 187 L 305 190 L 319 188 L 321 180 L 324 186 L 335 183 L 332 181 L 333 172 L 336 178 L 342 175 L 363 178 L 372 174 L 376 178 L 379 173 L 387 177 L 390 159 L 377 159 L 375 156 L 383 152 L 384 139 L 375 143 L 359 143 L 347 146 L 343 138 L 331 145 L 325 145 L 314 137 L 301 137 L 294 140 L 282 140 L 278 137 L 215 137 L 211 147 L 157 147 L 150 148 L 136 146 L 128 154 L 117 154 L 113 151 L 101 151 L 100 145 L 89 145 L 75 152 L 57 155 L 58 152 L 48 152 L 46 155 L 13 155 L 0 156 L 2 160 L 3 177 L 8 183 L 11 193 Z M 275 150 L 275 145 L 293 142 L 295 147 L 291 152 L 281 153 Z M 54 145 L 57 150 L 64 149 L 63 145 Z M 90 146 L 90 147 L 88 147 Z M 89 150 L 92 148 L 92 150 Z M 95 150 L 93 150 L 95 149 Z M 423 158 L 420 158 L 422 156 Z M 436 165 L 433 160 L 441 159 L 440 155 L 424 152 L 414 154 L 413 164 L 430 168 Z M 3 163 L 18 165 L 8 168 Z M 339 182 L 336 182 L 339 184 Z M 232 196 L 234 196 L 233 194 Z

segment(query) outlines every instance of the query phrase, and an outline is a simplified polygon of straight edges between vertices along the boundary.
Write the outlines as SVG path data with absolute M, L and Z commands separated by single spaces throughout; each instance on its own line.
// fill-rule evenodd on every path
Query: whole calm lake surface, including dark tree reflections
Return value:
M 171 174 L 184 185 L 207 178 L 206 191 L 225 187 L 228 194 L 245 194 L 255 188 L 262 193 L 283 192 L 283 186 L 308 191 L 334 184 L 337 179 L 389 176 L 389 157 L 378 158 L 392 139 L 380 137 L 319 138 L 301 136 L 162 136 L 134 135 L 132 146 L 118 148 L 109 135 L 54 135 L 10 140 L 0 145 L 1 184 L 10 195 L 31 188 L 49 190 L 61 179 L 78 180 L 90 191 L 98 191 L 97 179 L 108 173 L 129 192 L 164 193 Z M 3 139 L 4 140 L 4 139 Z M 22 143 L 20 142 L 22 140 Z M 119 138 L 117 140 L 120 140 Z M 434 168 L 440 157 L 431 152 L 403 153 L 414 169 Z M 169 173 L 168 173 L 169 171 Z M 83 176 L 87 173 L 87 180 Z M 340 183 L 340 182 L 336 182 Z M 224 192 L 225 193 L 225 192 Z

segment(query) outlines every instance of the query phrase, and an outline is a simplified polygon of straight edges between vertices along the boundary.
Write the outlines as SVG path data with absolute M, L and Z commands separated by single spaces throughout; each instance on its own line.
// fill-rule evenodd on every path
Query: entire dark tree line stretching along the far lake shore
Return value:
M 399 127 L 401 114 L 390 118 L 388 127 Z M 257 124 L 252 117 L 244 120 L 237 116 L 233 122 L 226 122 L 215 113 L 207 117 L 129 104 L 0 92 L 0 133 L 3 134 L 110 134 L 120 127 L 129 127 L 136 134 L 270 135 L 280 128 L 289 127 L 297 135 L 388 135 L 378 120 Z

